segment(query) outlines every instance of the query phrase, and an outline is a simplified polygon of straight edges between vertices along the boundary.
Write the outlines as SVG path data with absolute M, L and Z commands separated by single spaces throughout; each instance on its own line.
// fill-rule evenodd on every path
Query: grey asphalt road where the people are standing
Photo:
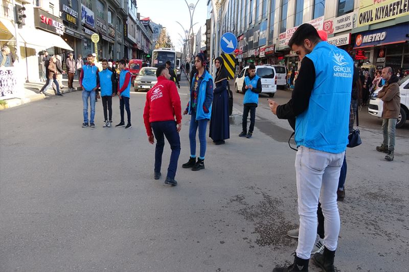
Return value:
M 186 105 L 186 80 L 180 96 Z M 285 103 L 290 93 L 274 97 Z M 242 94 L 235 94 L 241 110 Z M 0 112 L 0 271 L 271 271 L 292 260 L 298 224 L 295 153 L 285 120 L 260 96 L 252 139 L 214 145 L 206 169 L 178 168 L 178 186 L 153 180 L 154 146 L 131 94 L 132 128 L 81 128 L 81 92 Z M 113 102 L 113 121 L 119 103 Z M 348 149 L 346 199 L 335 264 L 340 271 L 408 265 L 408 126 L 395 160 L 383 160 L 379 120 L 361 118 L 362 145 Z M 362 116 L 361 115 L 361 116 Z M 370 118 L 368 117 L 368 120 Z M 236 118 L 237 120 L 237 118 Z M 189 157 L 189 117 L 179 166 Z M 165 146 L 162 173 L 170 154 Z M 320 271 L 310 263 L 310 271 Z

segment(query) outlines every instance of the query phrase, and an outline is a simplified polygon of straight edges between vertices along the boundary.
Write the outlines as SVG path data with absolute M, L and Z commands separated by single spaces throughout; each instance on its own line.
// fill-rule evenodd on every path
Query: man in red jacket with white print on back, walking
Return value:
M 168 68 L 158 67 L 156 77 L 156 85 L 146 94 L 144 123 L 148 141 L 153 144 L 154 138 L 156 138 L 154 179 L 158 180 L 161 177 L 164 137 L 166 137 L 172 153 L 165 183 L 174 186 L 177 184 L 175 175 L 180 155 L 179 132 L 182 126 L 180 97 L 175 84 L 170 81 L 171 76 Z

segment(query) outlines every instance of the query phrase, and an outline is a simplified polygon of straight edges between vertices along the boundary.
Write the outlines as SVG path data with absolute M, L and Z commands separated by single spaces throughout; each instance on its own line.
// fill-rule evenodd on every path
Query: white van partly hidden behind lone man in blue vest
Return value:
M 248 75 L 248 66 L 244 67 L 239 73 L 234 82 L 234 89 L 236 92 L 240 92 L 243 87 L 244 78 Z M 276 69 L 272 65 L 257 65 L 256 75 L 261 78 L 261 93 L 268 93 L 270 97 L 273 97 L 277 92 L 277 78 Z

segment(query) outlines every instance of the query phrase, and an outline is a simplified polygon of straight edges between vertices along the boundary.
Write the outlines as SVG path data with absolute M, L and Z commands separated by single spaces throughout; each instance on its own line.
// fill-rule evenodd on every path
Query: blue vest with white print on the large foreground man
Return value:
M 296 143 L 328 153 L 344 152 L 349 133 L 352 58 L 326 41 L 319 42 L 305 57 L 314 64 L 315 83 L 308 108 L 296 119 Z

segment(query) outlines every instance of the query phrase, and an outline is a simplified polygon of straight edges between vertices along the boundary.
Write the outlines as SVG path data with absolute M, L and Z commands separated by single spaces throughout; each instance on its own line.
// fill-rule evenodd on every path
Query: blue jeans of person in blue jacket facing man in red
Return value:
M 189 140 L 190 140 L 190 157 L 196 158 L 196 132 L 199 128 L 200 156 L 204 160 L 206 155 L 206 129 L 209 119 L 196 121 L 196 113 L 193 112 L 190 118 Z

